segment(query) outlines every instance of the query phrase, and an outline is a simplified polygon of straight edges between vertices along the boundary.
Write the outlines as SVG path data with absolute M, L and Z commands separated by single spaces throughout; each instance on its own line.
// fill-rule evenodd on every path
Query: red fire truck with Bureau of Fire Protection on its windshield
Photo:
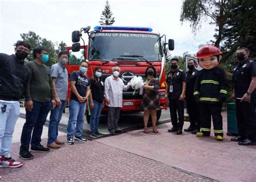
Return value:
M 90 26 L 81 28 L 80 31 L 72 32 L 72 47 L 67 47 L 70 54 L 67 66 L 68 73 L 77 71 L 79 62 L 85 60 L 88 63 L 87 76 L 90 78 L 96 66 L 102 67 L 103 81 L 112 74 L 112 67 L 121 68 L 120 78 L 125 85 L 133 76 L 144 77 L 147 66 L 156 68 L 157 76 L 160 80 L 159 100 L 161 109 L 167 109 L 165 95 L 165 55 L 163 47 L 169 45 L 169 50 L 174 49 L 174 41 L 169 39 L 169 43 L 162 46 L 161 38 L 157 33 L 153 33 L 149 27 L 126 27 L 126 26 L 95 26 L 90 31 Z M 88 44 L 82 38 L 82 33 L 88 35 Z M 80 38 L 83 45 L 80 45 Z M 166 39 L 165 39 L 166 40 Z M 68 98 L 70 97 L 70 88 Z M 138 90 L 134 92 L 131 88 L 123 92 L 123 112 L 138 112 L 142 102 L 142 95 Z M 104 102 L 103 112 L 107 110 Z M 161 110 L 157 111 L 157 120 L 161 116 Z M 86 110 L 87 122 L 90 121 L 89 111 Z

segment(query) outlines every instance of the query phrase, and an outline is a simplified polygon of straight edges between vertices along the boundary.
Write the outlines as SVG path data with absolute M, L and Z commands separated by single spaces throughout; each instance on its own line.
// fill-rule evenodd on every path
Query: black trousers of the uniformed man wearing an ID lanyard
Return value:
M 182 130 L 184 124 L 184 101 L 169 98 L 169 104 L 172 126 L 176 129 Z M 179 122 L 177 118 L 177 111 L 179 116 Z

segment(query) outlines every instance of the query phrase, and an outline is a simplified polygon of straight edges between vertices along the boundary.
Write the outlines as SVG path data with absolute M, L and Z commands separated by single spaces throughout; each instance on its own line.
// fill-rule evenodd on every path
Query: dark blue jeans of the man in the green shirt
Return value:
M 21 150 L 29 150 L 30 143 L 33 148 L 41 144 L 43 126 L 50 110 L 51 102 L 38 101 L 33 101 L 31 111 L 26 110 L 26 122 L 21 135 Z

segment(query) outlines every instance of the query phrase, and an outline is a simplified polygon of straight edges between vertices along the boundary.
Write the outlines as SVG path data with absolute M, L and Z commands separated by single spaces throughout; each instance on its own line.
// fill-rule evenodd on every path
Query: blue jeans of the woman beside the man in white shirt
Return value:
M 90 118 L 90 126 L 91 126 L 91 133 L 97 134 L 99 128 L 99 116 L 102 113 L 102 105 L 103 103 L 99 103 L 93 100 L 94 108 L 91 109 L 91 118 Z

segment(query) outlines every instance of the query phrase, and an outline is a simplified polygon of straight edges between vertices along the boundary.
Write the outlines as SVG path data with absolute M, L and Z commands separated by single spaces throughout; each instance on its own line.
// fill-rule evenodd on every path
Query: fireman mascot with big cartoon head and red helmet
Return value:
M 199 71 L 194 86 L 194 97 L 199 102 L 201 122 L 201 132 L 197 132 L 197 136 L 210 136 L 212 118 L 217 141 L 223 141 L 221 108 L 227 96 L 226 74 L 224 69 L 218 67 L 220 54 L 219 48 L 212 45 L 199 49 L 196 58 L 203 69 Z

